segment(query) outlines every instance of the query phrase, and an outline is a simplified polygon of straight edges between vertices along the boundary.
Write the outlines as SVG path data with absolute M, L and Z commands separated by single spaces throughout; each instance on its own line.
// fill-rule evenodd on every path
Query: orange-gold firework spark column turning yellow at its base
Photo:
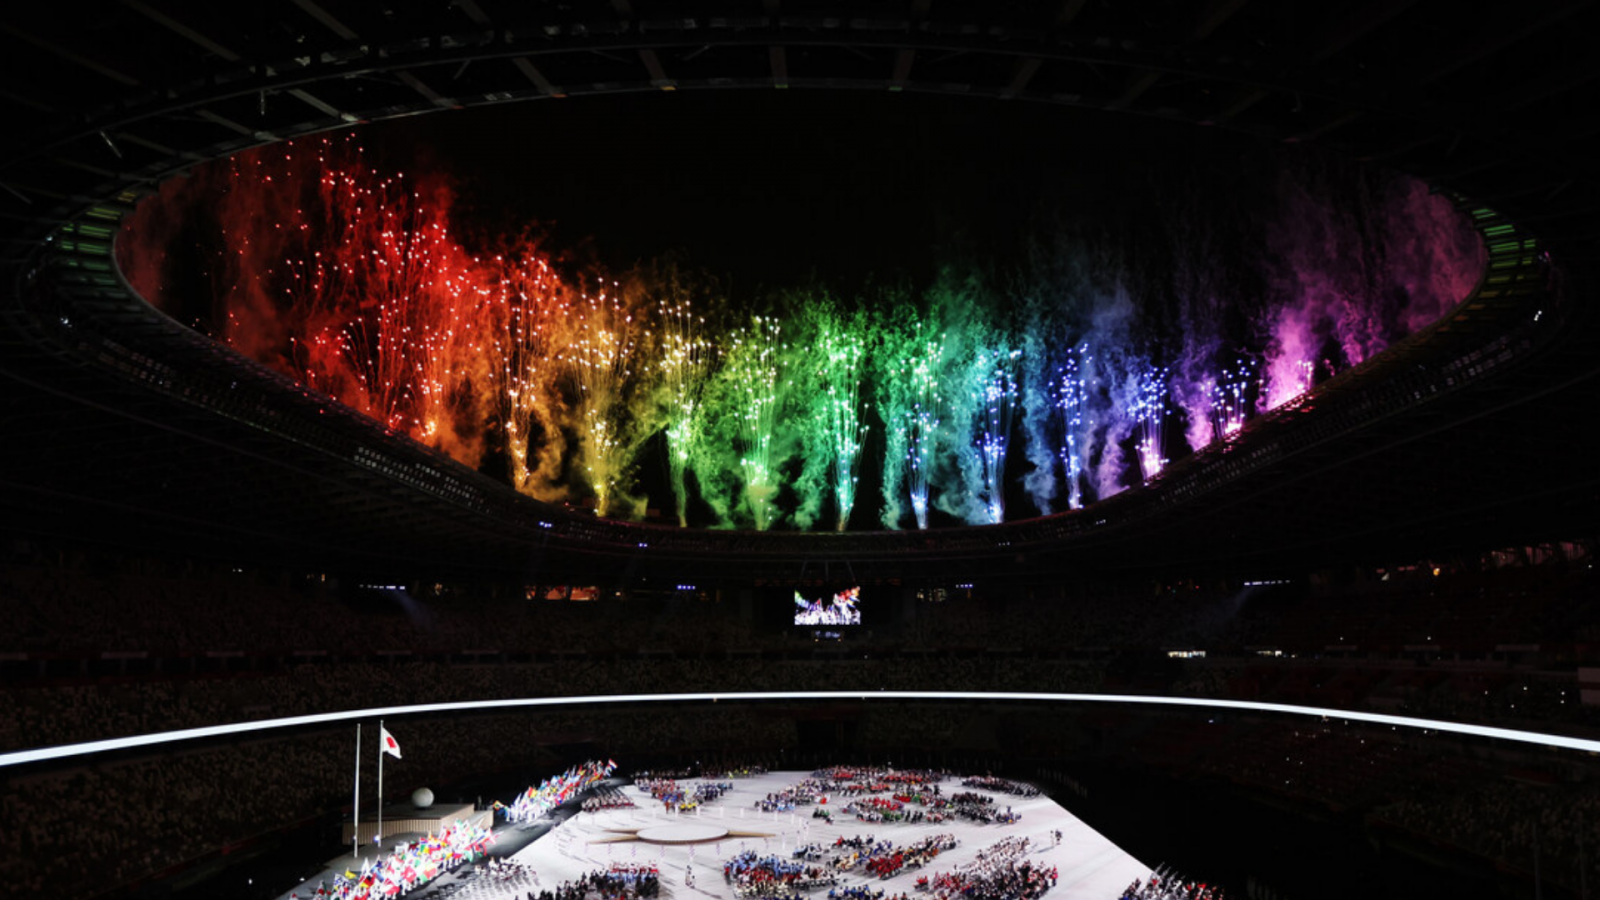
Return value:
M 562 349 L 562 360 L 574 391 L 578 444 L 595 512 L 608 516 L 629 463 L 626 392 L 634 378 L 634 352 L 648 331 L 637 327 L 616 290 L 581 295 L 573 312 L 571 343 Z

